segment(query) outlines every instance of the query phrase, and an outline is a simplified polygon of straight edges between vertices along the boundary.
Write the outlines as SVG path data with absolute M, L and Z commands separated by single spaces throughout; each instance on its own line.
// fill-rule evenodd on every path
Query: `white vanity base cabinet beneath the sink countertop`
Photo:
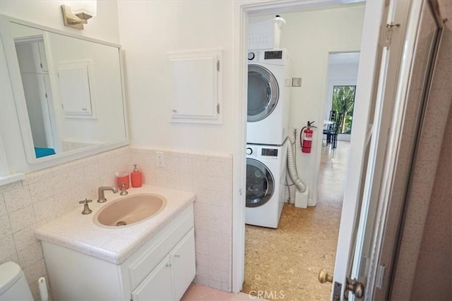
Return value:
M 180 300 L 196 274 L 193 205 L 119 265 L 42 247 L 55 300 Z

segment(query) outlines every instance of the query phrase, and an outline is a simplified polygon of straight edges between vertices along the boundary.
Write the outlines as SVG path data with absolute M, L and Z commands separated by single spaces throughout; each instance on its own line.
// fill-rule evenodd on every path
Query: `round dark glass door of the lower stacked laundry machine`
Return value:
M 246 158 L 246 207 L 259 207 L 273 196 L 275 180 L 267 166 Z

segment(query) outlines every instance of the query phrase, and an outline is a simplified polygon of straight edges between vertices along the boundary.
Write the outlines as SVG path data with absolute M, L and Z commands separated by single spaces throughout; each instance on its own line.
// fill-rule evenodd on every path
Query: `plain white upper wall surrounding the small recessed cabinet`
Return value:
M 119 1 L 131 145 L 232 152 L 233 1 Z M 222 125 L 170 123 L 169 51 L 224 49 Z

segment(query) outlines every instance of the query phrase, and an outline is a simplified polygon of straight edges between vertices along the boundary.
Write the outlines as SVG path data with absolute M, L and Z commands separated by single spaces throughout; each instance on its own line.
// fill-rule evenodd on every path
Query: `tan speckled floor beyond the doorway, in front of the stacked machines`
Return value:
M 331 285 L 319 283 L 317 274 L 333 273 L 349 146 L 323 147 L 316 207 L 285 204 L 278 229 L 246 225 L 242 292 L 263 292 L 268 300 L 330 300 Z

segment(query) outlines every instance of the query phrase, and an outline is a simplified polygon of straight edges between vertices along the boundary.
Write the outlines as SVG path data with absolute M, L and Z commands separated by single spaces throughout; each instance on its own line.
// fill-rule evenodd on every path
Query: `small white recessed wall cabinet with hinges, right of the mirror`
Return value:
M 171 121 L 222 123 L 222 51 L 167 54 Z

